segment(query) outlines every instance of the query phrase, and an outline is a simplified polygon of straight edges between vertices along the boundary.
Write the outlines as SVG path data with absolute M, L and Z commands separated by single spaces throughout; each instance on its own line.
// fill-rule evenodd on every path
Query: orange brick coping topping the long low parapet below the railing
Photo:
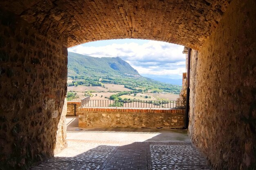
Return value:
M 162 109 L 162 108 L 80 108 L 88 112 L 137 112 L 137 113 L 185 113 L 184 109 Z

